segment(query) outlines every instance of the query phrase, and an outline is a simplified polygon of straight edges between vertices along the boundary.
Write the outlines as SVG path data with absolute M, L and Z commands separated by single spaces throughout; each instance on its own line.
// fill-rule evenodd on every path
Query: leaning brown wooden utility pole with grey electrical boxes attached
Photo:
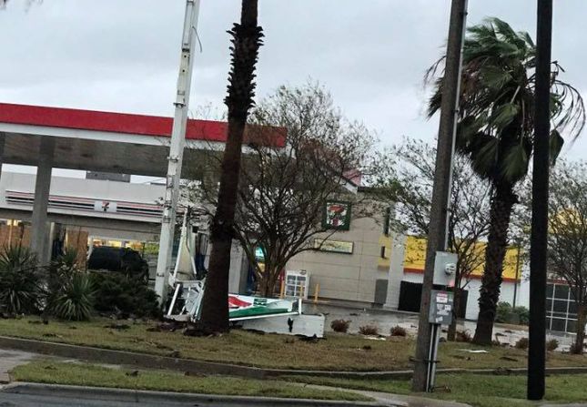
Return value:
M 416 343 L 416 361 L 412 390 L 427 391 L 428 359 L 430 353 L 430 291 L 434 282 L 434 261 L 437 251 L 447 247 L 447 228 L 450 209 L 450 184 L 452 177 L 452 156 L 456 136 L 456 122 L 459 108 L 460 67 L 462 65 L 462 44 L 467 19 L 467 0 L 452 0 L 450 5 L 449 40 L 447 43 L 444 77 L 442 79 L 442 101 L 440 125 L 436 149 L 436 169 L 432 202 L 426 265 L 422 282 L 420 301 L 420 322 Z

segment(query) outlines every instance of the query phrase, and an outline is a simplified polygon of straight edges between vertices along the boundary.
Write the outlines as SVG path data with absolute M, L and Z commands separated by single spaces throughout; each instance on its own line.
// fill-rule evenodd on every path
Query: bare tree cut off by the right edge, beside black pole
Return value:
M 549 272 L 569 284 L 577 304 L 572 351 L 582 353 L 587 321 L 587 163 L 560 163 L 552 169 L 550 188 Z

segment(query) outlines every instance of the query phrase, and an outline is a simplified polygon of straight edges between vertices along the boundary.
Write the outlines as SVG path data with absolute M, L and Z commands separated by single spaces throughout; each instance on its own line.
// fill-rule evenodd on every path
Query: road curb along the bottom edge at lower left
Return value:
M 251 396 L 223 396 L 216 394 L 197 394 L 181 392 L 153 392 L 145 390 L 128 390 L 128 389 L 109 389 L 105 387 L 87 387 L 87 386 L 69 386 L 60 384 L 42 384 L 29 382 L 15 382 L 2 390 L 8 393 L 25 393 L 36 396 L 59 396 L 88 399 L 99 398 L 101 401 L 117 402 L 222 402 L 221 405 L 231 404 L 251 404 L 261 406 L 316 406 L 316 407 L 337 407 L 337 406 L 365 406 L 365 407 L 384 407 L 389 404 L 381 402 L 343 402 L 343 401 L 324 401 L 313 399 L 285 399 L 278 397 L 251 397 Z M 161 404 L 164 405 L 164 404 Z

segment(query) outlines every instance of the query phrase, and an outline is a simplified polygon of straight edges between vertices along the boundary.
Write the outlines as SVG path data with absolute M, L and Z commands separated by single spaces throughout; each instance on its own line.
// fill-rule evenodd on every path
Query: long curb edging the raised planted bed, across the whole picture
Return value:
M 286 370 L 263 369 L 237 364 L 220 363 L 213 361 L 197 361 L 194 359 L 171 358 L 148 353 L 132 351 L 115 351 L 90 346 L 69 345 L 66 343 L 36 341 L 0 336 L 0 348 L 18 351 L 29 351 L 44 355 L 59 356 L 62 358 L 95 361 L 108 364 L 122 364 L 143 369 L 163 369 L 168 371 L 183 371 L 189 373 L 205 373 L 226 376 L 240 376 L 248 379 L 266 379 L 279 376 L 319 376 L 341 379 L 411 379 L 412 371 L 313 371 L 313 370 Z M 526 374 L 527 368 L 512 369 L 439 369 L 440 374 L 496 374 L 520 375 Z M 587 373 L 587 366 L 546 368 L 547 374 L 580 374 Z

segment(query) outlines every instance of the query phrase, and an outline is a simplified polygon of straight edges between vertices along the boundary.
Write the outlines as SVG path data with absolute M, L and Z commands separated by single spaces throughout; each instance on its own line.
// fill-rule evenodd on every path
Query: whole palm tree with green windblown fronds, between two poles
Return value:
M 518 200 L 516 186 L 528 173 L 533 149 L 536 46 L 528 33 L 517 33 L 498 18 L 467 31 L 456 148 L 492 189 L 480 311 L 473 338 L 475 343 L 491 344 L 511 209 Z M 430 67 L 427 79 L 435 76 L 442 60 Z M 553 61 L 551 164 L 562 149 L 562 134 L 574 139 L 585 123 L 582 97 L 559 79 L 562 72 L 562 66 Z M 440 109 L 441 89 L 442 78 L 438 77 L 429 101 L 429 117 Z

